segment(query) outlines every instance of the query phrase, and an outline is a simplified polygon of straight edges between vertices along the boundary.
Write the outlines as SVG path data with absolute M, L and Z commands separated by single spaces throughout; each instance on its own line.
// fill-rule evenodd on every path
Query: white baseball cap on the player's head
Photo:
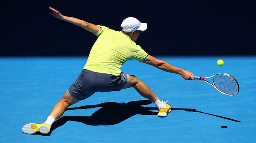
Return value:
M 132 32 L 136 30 L 145 31 L 146 28 L 148 27 L 148 24 L 141 23 L 140 21 L 138 21 L 138 19 L 134 17 L 128 17 L 124 19 L 124 21 L 121 24 L 121 27 L 122 31 L 124 32 Z

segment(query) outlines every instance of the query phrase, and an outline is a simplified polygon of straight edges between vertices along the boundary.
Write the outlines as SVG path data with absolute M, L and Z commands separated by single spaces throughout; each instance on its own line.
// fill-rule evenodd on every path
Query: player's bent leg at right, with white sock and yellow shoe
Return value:
M 158 99 L 154 92 L 142 81 L 140 81 L 135 76 L 127 75 L 127 84 L 123 87 L 123 89 L 133 87 L 135 88 L 143 97 L 149 99 L 152 103 L 154 103 L 158 107 L 158 116 L 166 117 L 168 113 L 172 111 L 172 106 L 166 104 L 168 101 L 163 102 Z

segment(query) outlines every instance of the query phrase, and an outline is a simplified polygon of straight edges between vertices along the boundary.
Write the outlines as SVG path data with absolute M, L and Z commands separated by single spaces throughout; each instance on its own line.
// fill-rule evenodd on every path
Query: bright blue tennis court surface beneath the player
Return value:
M 46 120 L 87 57 L 0 57 L 0 142 L 255 142 L 255 56 L 157 58 L 197 76 L 229 73 L 239 82 L 239 94 L 227 96 L 203 81 L 185 81 L 131 60 L 121 70 L 141 79 L 160 100 L 169 100 L 173 110 L 166 118 L 158 118 L 155 105 L 130 88 L 93 94 L 70 106 L 51 134 L 28 135 L 22 132 L 23 125 Z M 224 60 L 222 67 L 217 66 L 218 59 Z

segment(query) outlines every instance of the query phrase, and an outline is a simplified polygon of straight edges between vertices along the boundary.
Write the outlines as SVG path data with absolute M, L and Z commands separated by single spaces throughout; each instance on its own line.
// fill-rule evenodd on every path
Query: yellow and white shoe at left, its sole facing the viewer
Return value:
M 49 124 L 35 124 L 29 123 L 23 126 L 22 131 L 26 134 L 34 134 L 36 132 L 41 132 L 42 134 L 47 134 L 50 132 L 51 126 Z

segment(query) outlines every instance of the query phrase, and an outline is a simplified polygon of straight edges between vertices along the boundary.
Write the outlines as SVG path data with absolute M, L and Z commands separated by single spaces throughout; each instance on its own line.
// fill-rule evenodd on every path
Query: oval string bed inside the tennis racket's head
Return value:
M 239 86 L 236 81 L 230 76 L 218 74 L 213 77 L 213 83 L 221 92 L 226 94 L 235 95 L 239 91 Z

